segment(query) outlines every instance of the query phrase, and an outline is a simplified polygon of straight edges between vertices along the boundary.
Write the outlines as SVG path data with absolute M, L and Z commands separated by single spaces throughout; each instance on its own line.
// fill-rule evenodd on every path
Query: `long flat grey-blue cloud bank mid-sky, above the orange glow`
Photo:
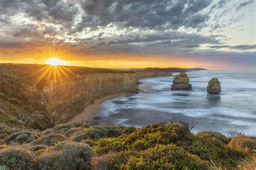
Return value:
M 154 54 L 178 54 L 200 44 L 219 44 L 216 37 L 202 36 L 196 33 L 188 34 L 177 31 L 165 32 L 156 31 L 154 33 L 125 33 L 123 35 L 111 37 L 91 37 L 77 39 L 73 48 L 83 52 L 144 52 Z

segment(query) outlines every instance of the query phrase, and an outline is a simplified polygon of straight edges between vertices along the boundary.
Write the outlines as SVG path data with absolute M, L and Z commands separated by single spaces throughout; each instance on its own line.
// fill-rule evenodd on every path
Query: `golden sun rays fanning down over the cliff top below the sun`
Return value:
M 46 65 L 42 69 L 39 69 L 32 76 L 38 76 L 35 80 L 35 85 L 39 83 L 49 84 L 49 81 L 54 83 L 63 83 L 64 79 L 71 79 L 70 76 L 75 73 L 62 65 Z

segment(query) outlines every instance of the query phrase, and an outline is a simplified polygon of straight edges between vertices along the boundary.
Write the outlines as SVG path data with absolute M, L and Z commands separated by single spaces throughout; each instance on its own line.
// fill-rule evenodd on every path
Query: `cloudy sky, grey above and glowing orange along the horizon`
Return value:
M 0 0 L 0 63 L 255 69 L 256 0 Z

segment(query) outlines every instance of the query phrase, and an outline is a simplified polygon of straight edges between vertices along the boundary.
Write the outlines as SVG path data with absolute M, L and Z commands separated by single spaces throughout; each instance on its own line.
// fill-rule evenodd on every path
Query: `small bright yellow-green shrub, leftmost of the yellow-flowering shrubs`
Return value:
M 124 151 L 127 148 L 120 138 L 103 138 L 93 145 L 93 149 L 100 155 L 108 152 Z

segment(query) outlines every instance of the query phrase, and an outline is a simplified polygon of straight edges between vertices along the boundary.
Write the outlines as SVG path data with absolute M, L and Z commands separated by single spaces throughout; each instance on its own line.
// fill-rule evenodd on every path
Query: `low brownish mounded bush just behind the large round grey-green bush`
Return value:
M 46 145 L 46 146 L 53 146 L 59 141 L 65 140 L 66 137 L 62 134 L 58 133 L 52 133 L 49 135 L 45 135 L 43 137 L 38 138 L 37 140 L 34 140 L 30 142 L 29 145 Z

